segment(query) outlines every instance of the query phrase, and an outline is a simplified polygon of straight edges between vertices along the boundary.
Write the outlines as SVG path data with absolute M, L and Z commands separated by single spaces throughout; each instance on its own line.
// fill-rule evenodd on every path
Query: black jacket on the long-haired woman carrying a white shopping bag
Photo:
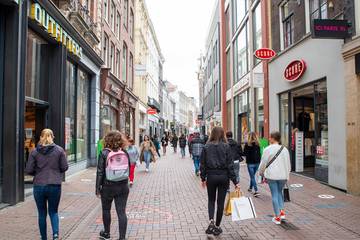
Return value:
M 200 161 L 202 181 L 206 181 L 209 175 L 227 175 L 235 185 L 238 184 L 228 144 L 207 143 L 201 153 Z

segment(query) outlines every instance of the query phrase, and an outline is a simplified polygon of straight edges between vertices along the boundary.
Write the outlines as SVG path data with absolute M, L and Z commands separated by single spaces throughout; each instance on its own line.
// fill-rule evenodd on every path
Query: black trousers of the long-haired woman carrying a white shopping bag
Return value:
M 224 202 L 226 192 L 229 188 L 229 178 L 227 175 L 208 175 L 207 191 L 208 191 L 208 211 L 209 220 L 214 219 L 215 200 L 217 200 L 216 226 L 220 226 L 224 213 Z

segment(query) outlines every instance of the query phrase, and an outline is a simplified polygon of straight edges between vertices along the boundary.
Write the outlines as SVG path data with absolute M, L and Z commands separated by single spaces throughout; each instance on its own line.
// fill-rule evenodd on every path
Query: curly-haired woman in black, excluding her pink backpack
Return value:
M 119 239 L 125 239 L 127 229 L 126 203 L 129 196 L 128 179 L 123 181 L 109 181 L 106 179 L 106 160 L 113 151 L 124 151 L 127 141 L 119 131 L 111 131 L 105 137 L 105 148 L 99 156 L 96 175 L 96 195 L 101 198 L 104 230 L 100 232 L 100 239 L 110 239 L 111 205 L 115 201 L 116 213 L 119 219 Z M 128 154 L 127 154 L 128 156 Z M 130 169 L 130 161 L 129 161 Z

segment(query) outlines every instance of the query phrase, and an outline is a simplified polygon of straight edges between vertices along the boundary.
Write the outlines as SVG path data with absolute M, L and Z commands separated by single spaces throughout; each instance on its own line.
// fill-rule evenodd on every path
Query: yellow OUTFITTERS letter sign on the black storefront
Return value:
M 81 58 L 82 48 L 69 34 L 43 9 L 40 4 L 33 3 L 30 18 L 43 27 L 56 41 L 62 43 L 69 52 Z

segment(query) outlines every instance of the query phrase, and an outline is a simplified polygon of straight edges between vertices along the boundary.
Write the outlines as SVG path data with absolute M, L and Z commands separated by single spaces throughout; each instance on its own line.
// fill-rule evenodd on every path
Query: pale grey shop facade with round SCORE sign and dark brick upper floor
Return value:
M 315 19 L 346 19 L 356 26 L 354 9 L 354 1 L 273 1 L 271 42 L 278 54 L 269 63 L 270 130 L 280 130 L 292 149 L 293 170 L 352 192 L 359 189 L 353 175 L 359 168 L 349 155 L 355 146 L 348 146 L 355 133 L 351 111 L 358 110 L 350 89 L 357 79 L 351 71 L 356 50 L 348 47 L 356 49 L 356 40 L 344 45 L 343 39 L 311 33 Z

